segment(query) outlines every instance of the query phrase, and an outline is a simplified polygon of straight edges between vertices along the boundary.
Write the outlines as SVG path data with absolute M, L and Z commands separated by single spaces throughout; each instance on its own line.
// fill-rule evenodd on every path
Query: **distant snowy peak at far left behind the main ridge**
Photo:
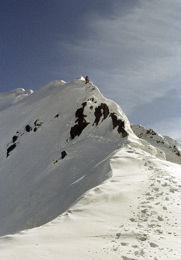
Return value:
M 0 94 L 0 110 L 3 110 L 16 102 L 20 101 L 22 98 L 27 97 L 32 94 L 32 90 L 24 90 L 23 88 L 17 88 L 10 90 L 5 93 Z

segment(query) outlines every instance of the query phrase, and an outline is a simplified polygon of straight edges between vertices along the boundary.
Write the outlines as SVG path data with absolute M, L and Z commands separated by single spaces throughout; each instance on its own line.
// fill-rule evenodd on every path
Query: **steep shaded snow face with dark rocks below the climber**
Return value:
M 120 107 L 83 77 L 52 82 L 0 116 L 1 235 L 57 217 L 111 174 L 109 158 L 129 136 L 138 140 Z

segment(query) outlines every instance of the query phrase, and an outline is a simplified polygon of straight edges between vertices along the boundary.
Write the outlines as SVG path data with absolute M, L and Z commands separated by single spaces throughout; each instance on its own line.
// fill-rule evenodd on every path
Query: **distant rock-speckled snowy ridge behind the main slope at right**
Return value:
M 176 140 L 169 136 L 162 136 L 140 124 L 131 124 L 131 129 L 139 138 L 163 150 L 167 161 L 181 164 L 181 146 Z

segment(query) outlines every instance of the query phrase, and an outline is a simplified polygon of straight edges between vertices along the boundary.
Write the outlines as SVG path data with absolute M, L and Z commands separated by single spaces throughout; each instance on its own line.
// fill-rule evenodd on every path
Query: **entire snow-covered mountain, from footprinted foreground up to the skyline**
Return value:
M 23 91 L 0 94 L 0 259 L 181 259 L 180 144 L 83 77 Z

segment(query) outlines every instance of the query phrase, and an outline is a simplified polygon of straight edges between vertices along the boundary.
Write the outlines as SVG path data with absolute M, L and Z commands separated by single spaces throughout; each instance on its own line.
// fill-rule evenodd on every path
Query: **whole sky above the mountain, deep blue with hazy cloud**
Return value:
M 1 0 L 0 92 L 89 76 L 130 123 L 181 143 L 180 0 Z

